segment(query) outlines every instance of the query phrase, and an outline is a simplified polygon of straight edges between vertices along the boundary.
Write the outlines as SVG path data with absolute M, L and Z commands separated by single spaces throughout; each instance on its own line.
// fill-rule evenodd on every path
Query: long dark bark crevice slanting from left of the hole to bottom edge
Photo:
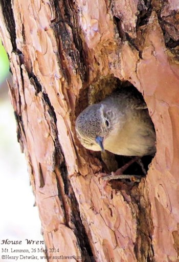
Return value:
M 64 216 L 65 216 L 65 224 L 68 227 L 70 227 L 70 222 L 74 224 L 75 226 L 74 233 L 77 237 L 78 245 L 82 251 L 82 256 L 85 257 L 84 261 L 89 262 L 91 261 L 90 257 L 93 256 L 93 252 L 88 242 L 88 237 L 87 237 L 85 228 L 82 224 L 78 202 L 76 200 L 72 186 L 69 183 L 68 170 L 66 168 L 65 161 L 64 161 L 64 155 L 62 153 L 61 146 L 58 140 L 58 132 L 57 132 L 57 127 L 56 127 L 56 122 L 57 122 L 56 114 L 54 111 L 54 107 L 51 105 L 48 95 L 44 92 L 42 92 L 42 94 L 43 94 L 44 101 L 46 101 L 46 103 L 49 106 L 48 112 L 51 116 L 51 119 L 54 120 L 54 124 L 51 121 L 51 125 L 52 125 L 52 129 L 55 132 L 55 137 L 56 137 L 55 139 L 55 148 L 56 148 L 55 162 L 56 164 L 55 165 L 57 169 L 60 170 L 60 174 L 63 180 L 63 185 L 61 185 L 61 183 L 59 182 L 57 178 L 58 197 L 60 199 L 60 202 L 62 203 L 62 209 L 64 211 Z M 58 171 L 56 173 L 58 174 Z M 61 186 L 64 186 L 65 196 L 63 195 Z M 70 204 L 70 208 L 71 208 L 70 216 L 69 216 L 68 207 L 67 207 L 67 205 L 69 204 L 66 202 L 65 200 L 66 198 L 68 199 L 68 203 Z

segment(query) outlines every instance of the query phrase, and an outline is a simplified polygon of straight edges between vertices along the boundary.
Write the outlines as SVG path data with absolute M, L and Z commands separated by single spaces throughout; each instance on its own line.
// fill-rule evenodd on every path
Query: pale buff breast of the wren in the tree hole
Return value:
M 142 118 L 141 118 L 142 117 Z M 152 122 L 143 116 L 129 117 L 121 128 L 116 125 L 104 139 L 104 149 L 122 156 L 145 156 L 155 152 L 155 133 Z

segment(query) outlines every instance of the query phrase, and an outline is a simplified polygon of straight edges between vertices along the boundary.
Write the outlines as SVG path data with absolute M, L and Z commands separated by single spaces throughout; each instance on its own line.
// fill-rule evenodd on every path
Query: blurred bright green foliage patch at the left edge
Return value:
M 9 60 L 0 39 L 0 84 L 9 74 Z

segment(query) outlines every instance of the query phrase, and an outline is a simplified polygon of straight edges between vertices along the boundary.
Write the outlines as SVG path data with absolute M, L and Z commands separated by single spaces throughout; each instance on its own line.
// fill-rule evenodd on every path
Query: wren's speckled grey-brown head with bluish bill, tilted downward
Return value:
M 104 141 L 113 126 L 114 112 L 105 104 L 85 108 L 76 119 L 77 136 L 81 144 L 94 151 L 104 150 Z

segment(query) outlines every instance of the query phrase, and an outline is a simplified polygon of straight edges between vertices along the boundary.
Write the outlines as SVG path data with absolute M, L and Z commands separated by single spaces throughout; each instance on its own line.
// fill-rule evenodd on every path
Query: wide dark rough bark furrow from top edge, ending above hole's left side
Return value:
M 58 41 L 61 69 L 65 79 L 68 82 L 71 79 L 71 74 L 68 70 L 68 62 L 70 62 L 73 70 L 85 82 L 88 77 L 87 52 L 84 52 L 75 5 L 70 3 L 70 1 L 63 1 L 59 4 L 57 0 L 54 1 L 54 5 L 56 18 L 52 21 L 53 29 Z

